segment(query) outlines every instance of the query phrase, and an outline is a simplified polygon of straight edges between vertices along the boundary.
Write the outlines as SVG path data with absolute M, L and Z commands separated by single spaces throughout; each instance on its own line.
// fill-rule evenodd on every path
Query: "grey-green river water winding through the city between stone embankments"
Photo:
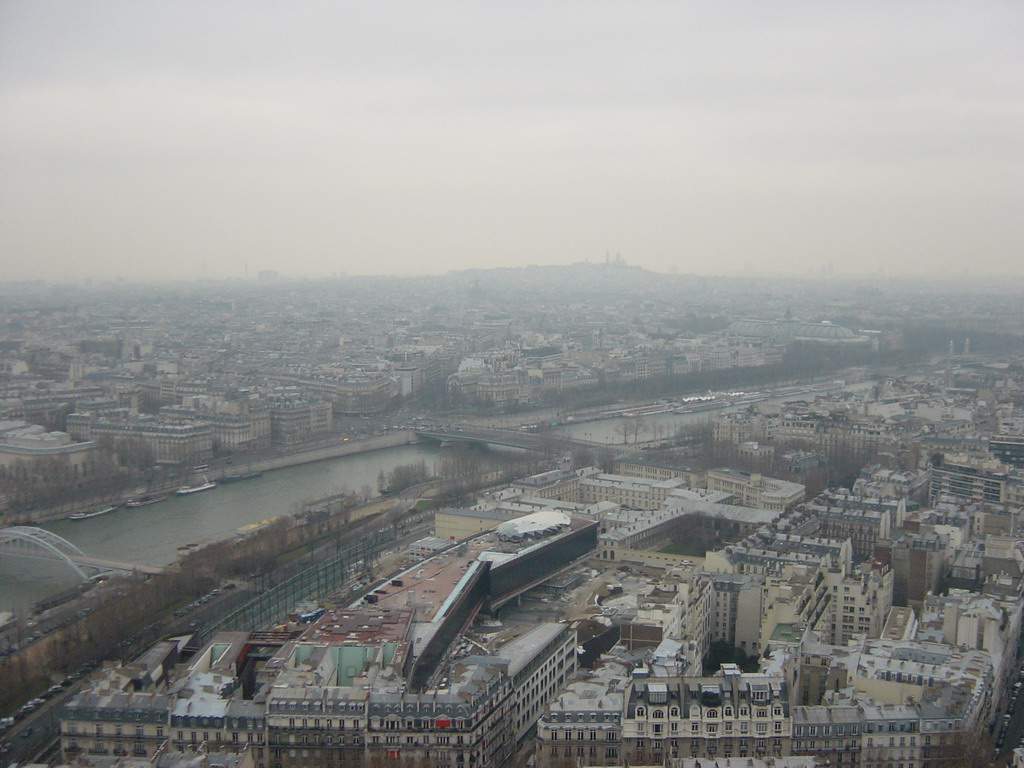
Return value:
M 855 391 L 869 382 L 835 386 Z M 813 398 L 813 394 L 803 395 Z M 797 399 L 788 395 L 773 399 Z M 610 418 L 566 424 L 559 434 L 594 443 L 622 444 L 667 439 L 677 430 L 708 422 L 735 406 L 718 411 L 693 414 L 662 413 L 634 418 Z M 515 417 L 512 417 L 513 419 Z M 522 418 L 522 417 L 519 417 Z M 494 424 L 494 426 L 510 426 Z M 400 445 L 366 454 L 329 459 L 288 469 L 267 472 L 263 477 L 219 485 L 213 490 L 185 497 L 171 497 L 166 502 L 136 509 L 121 508 L 88 520 L 57 520 L 42 527 L 52 530 L 76 545 L 85 554 L 122 562 L 164 565 L 173 561 L 178 547 L 204 539 L 219 540 L 234 536 L 243 525 L 278 515 L 291 514 L 303 501 L 336 494 L 342 488 L 358 492 L 368 486 L 377 489 L 377 476 L 400 464 L 423 460 L 428 469 L 440 461 L 435 445 Z M 12 574 L 0 563 L 0 611 L 28 611 L 32 605 L 74 583 L 59 567 L 33 568 L 31 575 Z

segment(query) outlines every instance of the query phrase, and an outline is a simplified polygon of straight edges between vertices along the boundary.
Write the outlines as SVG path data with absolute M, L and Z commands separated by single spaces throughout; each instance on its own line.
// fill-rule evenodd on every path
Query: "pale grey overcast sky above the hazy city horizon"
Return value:
M 0 280 L 1020 278 L 1022 40 L 1019 0 L 0 0 Z

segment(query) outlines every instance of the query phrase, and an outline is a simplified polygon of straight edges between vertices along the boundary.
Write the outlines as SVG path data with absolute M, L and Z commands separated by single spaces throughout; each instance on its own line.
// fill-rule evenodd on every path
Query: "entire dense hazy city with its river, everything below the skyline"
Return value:
M 0 294 L 6 762 L 1024 765 L 1019 286 Z

